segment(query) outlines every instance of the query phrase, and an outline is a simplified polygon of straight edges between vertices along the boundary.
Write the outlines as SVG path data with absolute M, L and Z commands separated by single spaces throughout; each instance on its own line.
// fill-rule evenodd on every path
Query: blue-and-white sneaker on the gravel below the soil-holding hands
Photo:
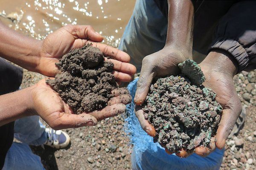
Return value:
M 53 130 L 52 128 L 45 128 L 45 132 L 48 134 L 48 139 L 44 143 L 47 146 L 55 149 L 62 149 L 68 146 L 70 143 L 70 136 L 62 130 Z

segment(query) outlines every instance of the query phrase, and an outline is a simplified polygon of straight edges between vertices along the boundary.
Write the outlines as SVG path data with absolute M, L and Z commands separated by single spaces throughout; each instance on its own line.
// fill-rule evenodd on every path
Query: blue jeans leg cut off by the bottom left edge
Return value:
M 29 145 L 13 142 L 6 154 L 3 170 L 44 170 L 44 167 Z

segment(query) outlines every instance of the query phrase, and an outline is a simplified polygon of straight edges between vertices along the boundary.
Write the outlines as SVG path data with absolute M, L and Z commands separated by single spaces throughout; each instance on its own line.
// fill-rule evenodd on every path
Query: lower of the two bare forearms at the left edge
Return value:
M 32 87 L 0 96 L 0 126 L 31 115 Z

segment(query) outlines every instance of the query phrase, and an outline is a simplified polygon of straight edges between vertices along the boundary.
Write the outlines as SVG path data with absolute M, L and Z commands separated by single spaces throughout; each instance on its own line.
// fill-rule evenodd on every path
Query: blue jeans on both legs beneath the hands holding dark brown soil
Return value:
M 45 126 L 39 116 L 28 116 L 15 121 L 14 136 L 22 143 L 13 142 L 7 152 L 3 170 L 44 170 L 41 158 L 29 145 L 41 145 L 47 140 Z

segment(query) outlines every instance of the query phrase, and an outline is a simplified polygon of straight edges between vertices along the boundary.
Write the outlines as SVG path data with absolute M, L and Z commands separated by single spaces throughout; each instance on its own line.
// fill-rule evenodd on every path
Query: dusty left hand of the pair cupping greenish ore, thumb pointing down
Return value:
M 154 137 L 156 131 L 154 127 L 144 118 L 144 113 L 140 105 L 143 104 L 146 96 L 148 95 L 148 90 L 153 78 L 178 74 L 180 70 L 177 65 L 180 62 L 188 59 L 188 56 L 189 53 L 182 52 L 182 50 L 178 50 L 178 48 L 163 48 L 162 50 L 150 54 L 143 59 L 134 102 L 136 104 L 136 116 L 140 122 L 140 125 L 150 136 Z M 168 153 L 167 150 L 166 152 Z M 177 153 L 177 155 L 181 157 L 185 157 L 188 154 L 189 153 L 187 153 L 185 150 L 181 150 L 180 153 Z

